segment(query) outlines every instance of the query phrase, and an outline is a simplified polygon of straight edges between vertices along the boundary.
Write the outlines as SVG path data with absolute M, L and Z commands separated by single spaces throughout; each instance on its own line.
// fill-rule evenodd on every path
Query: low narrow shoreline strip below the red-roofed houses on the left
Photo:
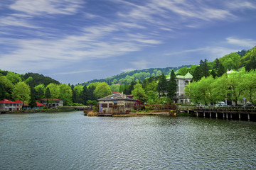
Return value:
M 1 114 L 12 114 L 12 113 L 56 113 L 56 112 L 71 112 L 75 111 L 75 108 L 54 108 L 54 109 L 38 109 L 38 110 L 23 110 L 23 111 L 9 111 Z

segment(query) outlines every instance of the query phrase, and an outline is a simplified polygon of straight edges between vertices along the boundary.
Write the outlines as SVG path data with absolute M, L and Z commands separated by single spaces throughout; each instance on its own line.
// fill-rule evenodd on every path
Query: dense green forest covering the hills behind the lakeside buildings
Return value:
M 253 47 L 247 51 L 233 52 L 216 58 L 213 62 L 201 60 L 198 65 L 134 70 L 71 86 L 60 84 L 42 74 L 16 74 L 0 69 L 0 100 L 18 99 L 28 102 L 31 107 L 41 98 L 59 98 L 66 106 L 95 105 L 97 99 L 108 96 L 113 91 L 119 91 L 132 94 L 134 98 L 146 103 L 172 103 L 177 86 L 176 75 L 190 72 L 193 75 L 193 83 L 186 88 L 186 94 L 196 103 L 214 103 L 222 100 L 224 94 L 230 95 L 230 100 L 235 102 L 240 98 L 248 98 L 249 101 L 256 102 L 255 50 L 256 47 Z M 240 71 L 240 73 L 228 76 L 227 70 L 233 70 L 235 73 Z M 230 91 L 230 89 L 235 90 Z M 238 94 L 232 94 L 233 92 Z M 209 93 L 215 96 L 207 96 Z

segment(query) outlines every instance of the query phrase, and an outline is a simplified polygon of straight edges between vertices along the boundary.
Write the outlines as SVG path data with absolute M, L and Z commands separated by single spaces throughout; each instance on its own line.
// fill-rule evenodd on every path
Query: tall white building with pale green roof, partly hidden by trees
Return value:
M 185 76 L 176 76 L 177 89 L 176 89 L 176 103 L 190 103 L 190 99 L 185 94 L 185 86 L 192 81 L 193 76 L 188 72 Z

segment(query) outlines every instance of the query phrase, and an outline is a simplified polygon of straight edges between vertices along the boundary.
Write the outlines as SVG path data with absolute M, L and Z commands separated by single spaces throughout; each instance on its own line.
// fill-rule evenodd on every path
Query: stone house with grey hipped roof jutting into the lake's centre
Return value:
M 110 96 L 100 98 L 99 107 L 102 114 L 122 114 L 134 110 L 138 100 L 132 96 L 116 93 Z

